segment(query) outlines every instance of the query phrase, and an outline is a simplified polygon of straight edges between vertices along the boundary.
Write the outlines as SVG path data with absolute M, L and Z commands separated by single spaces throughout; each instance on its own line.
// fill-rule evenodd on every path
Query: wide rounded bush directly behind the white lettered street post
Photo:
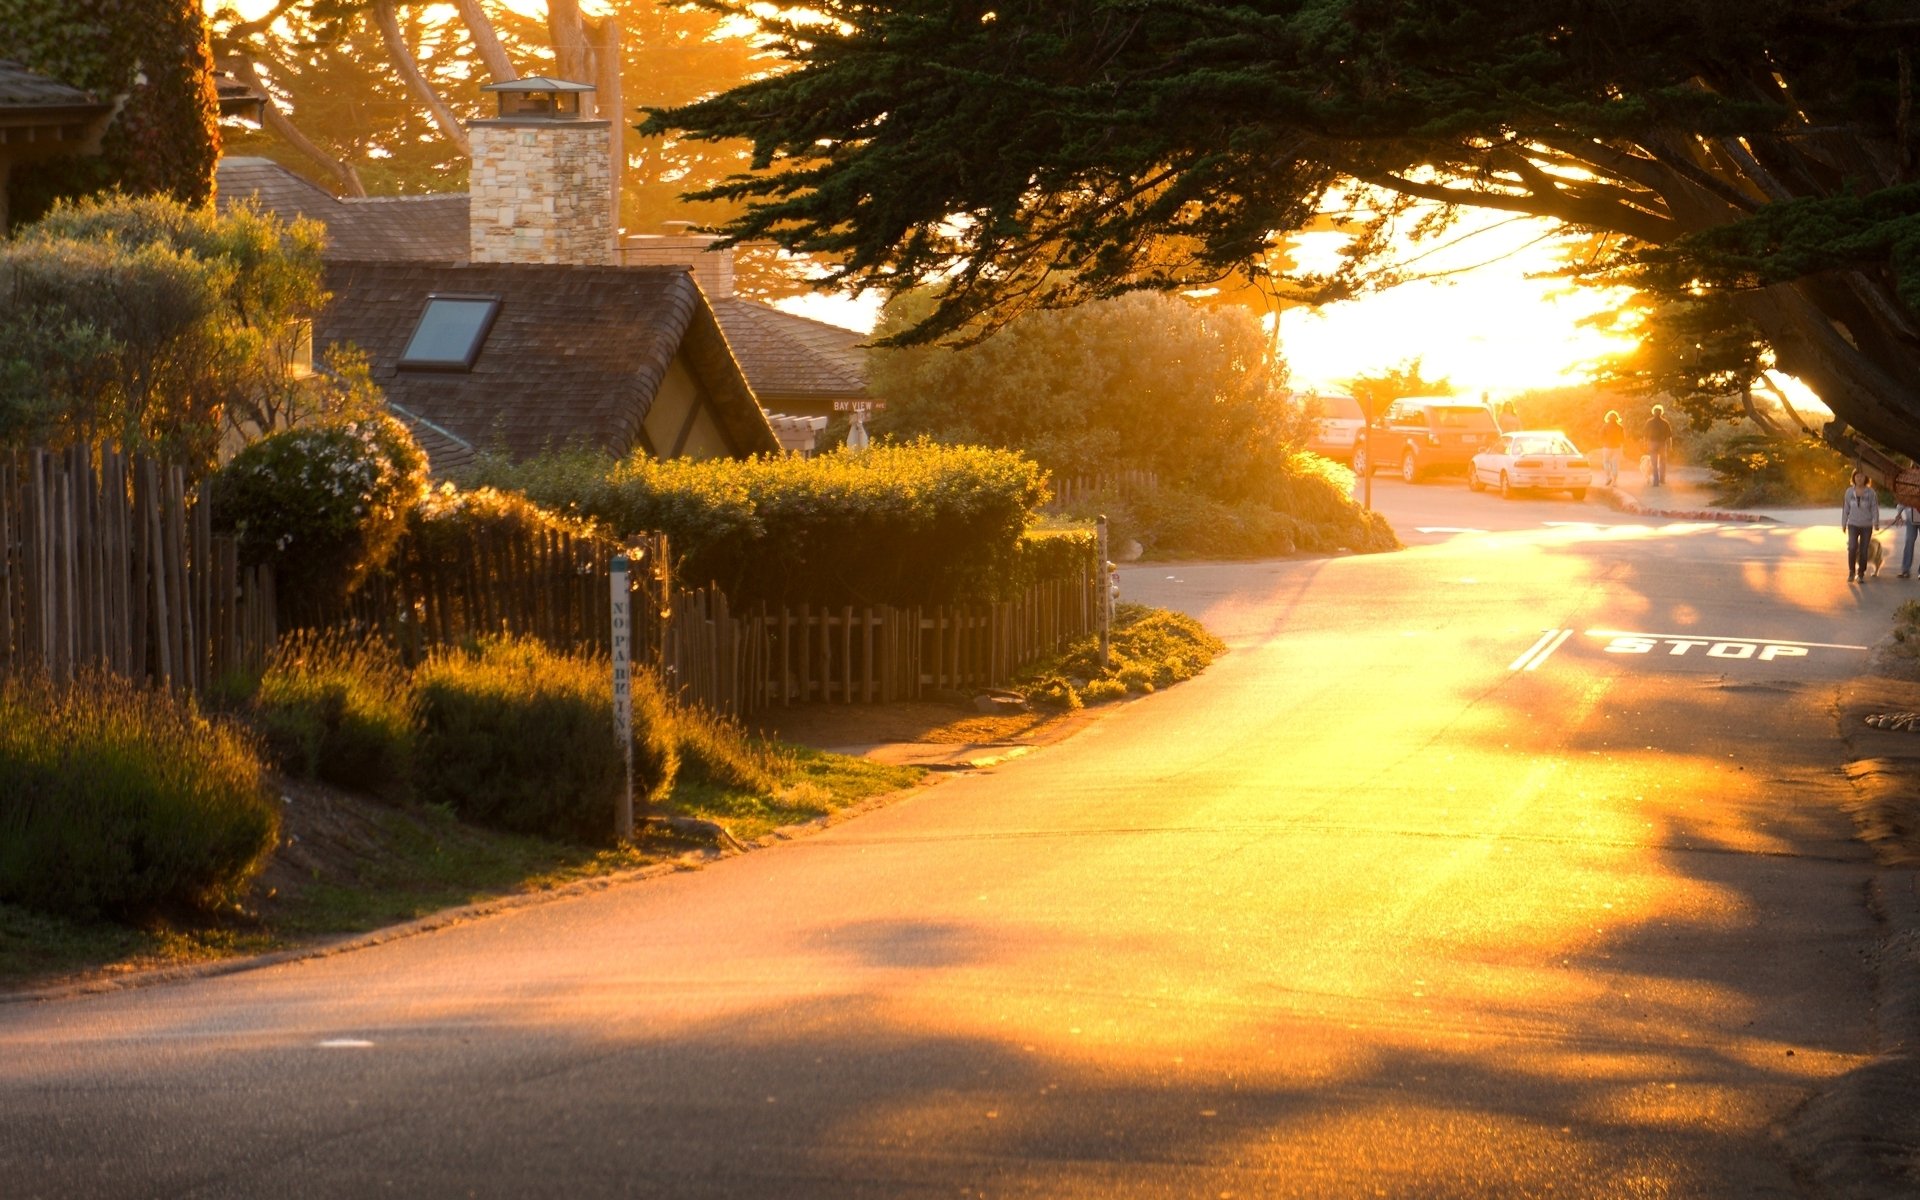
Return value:
M 415 791 L 478 824 L 607 843 L 624 780 L 599 655 L 534 639 L 438 651 L 413 678 Z M 634 803 L 664 797 L 678 768 L 666 699 L 634 674 Z

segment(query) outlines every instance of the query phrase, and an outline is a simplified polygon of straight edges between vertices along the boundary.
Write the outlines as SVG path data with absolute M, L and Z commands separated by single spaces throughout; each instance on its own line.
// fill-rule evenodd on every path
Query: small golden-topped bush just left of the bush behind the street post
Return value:
M 338 634 L 282 639 L 248 718 L 288 774 L 388 799 L 405 799 L 411 787 L 411 685 L 384 641 Z

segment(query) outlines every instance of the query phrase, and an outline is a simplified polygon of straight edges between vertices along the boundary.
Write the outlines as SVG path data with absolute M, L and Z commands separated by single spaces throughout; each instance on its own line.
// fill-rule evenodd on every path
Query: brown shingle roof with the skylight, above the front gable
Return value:
M 397 411 L 470 445 L 515 457 L 576 444 L 626 453 L 639 442 L 668 365 L 684 353 L 733 449 L 780 449 L 685 271 L 340 261 L 328 267 L 326 288 L 334 301 L 315 346 L 359 346 Z M 396 367 L 436 292 L 501 300 L 468 372 Z

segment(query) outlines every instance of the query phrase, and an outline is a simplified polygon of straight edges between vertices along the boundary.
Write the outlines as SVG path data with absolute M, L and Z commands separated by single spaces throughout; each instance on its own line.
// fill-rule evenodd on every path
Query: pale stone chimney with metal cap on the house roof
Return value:
M 490 83 L 499 117 L 468 125 L 474 263 L 614 263 L 607 121 L 582 115 L 593 86 L 541 75 Z

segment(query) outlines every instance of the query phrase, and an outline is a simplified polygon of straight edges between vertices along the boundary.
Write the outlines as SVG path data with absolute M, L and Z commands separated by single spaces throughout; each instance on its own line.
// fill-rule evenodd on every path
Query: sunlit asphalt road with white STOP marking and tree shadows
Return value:
M 1874 1050 L 1830 689 L 1907 593 L 1488 503 L 1133 568 L 1233 653 L 826 833 L 0 1004 L 0 1192 L 1801 1194 L 1774 1129 Z

